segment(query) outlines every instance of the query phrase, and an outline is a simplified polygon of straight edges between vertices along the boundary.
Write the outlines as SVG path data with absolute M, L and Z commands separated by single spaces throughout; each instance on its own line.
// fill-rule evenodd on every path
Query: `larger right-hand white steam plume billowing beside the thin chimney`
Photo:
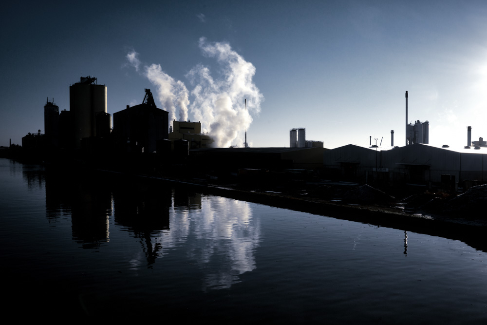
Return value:
M 218 147 L 227 147 L 234 140 L 242 141 L 243 132 L 252 123 L 250 112 L 259 113 L 263 99 L 252 82 L 255 67 L 247 62 L 228 43 L 207 43 L 200 38 L 200 48 L 208 57 L 215 57 L 222 68 L 222 78 L 213 79 L 208 67 L 197 65 L 187 77 L 194 85 L 195 97 L 190 109 L 202 128 L 215 139 Z M 245 110 L 244 99 L 247 99 Z

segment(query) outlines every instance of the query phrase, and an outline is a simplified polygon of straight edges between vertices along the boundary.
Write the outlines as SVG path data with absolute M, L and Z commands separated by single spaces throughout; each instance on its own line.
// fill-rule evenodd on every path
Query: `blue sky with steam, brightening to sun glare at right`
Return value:
M 292 128 L 330 149 L 390 146 L 391 130 L 403 146 L 406 91 L 431 145 L 465 146 L 467 126 L 487 139 L 485 1 L 37 2 L 0 12 L 0 146 L 44 131 L 47 97 L 69 110 L 81 76 L 107 85 L 108 113 L 150 88 L 220 146 L 247 130 L 289 147 Z

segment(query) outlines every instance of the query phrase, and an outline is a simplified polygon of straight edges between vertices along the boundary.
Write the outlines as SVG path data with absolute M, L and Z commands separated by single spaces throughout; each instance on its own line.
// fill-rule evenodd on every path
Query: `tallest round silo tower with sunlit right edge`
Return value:
M 96 136 L 96 114 L 107 113 L 107 86 L 94 84 L 96 78 L 81 77 L 69 87 L 69 105 L 73 112 L 75 147 L 82 138 Z

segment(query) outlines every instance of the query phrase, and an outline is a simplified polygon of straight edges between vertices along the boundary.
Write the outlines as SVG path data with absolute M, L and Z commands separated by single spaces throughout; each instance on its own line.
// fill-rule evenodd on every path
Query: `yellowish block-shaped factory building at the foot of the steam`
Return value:
M 172 121 L 169 140 L 173 143 L 177 140 L 186 140 L 189 149 L 209 148 L 213 143 L 208 134 L 201 133 L 201 122 L 191 121 Z

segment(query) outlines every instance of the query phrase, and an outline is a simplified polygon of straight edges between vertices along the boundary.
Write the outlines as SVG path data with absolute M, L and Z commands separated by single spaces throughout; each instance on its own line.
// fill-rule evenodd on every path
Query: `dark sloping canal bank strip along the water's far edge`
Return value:
M 110 171 L 111 174 L 128 176 L 127 174 Z M 487 252 L 487 243 L 484 240 L 487 232 L 487 222 L 453 218 L 443 215 L 421 214 L 419 211 L 404 212 L 402 209 L 383 205 L 351 205 L 337 203 L 326 199 L 298 197 L 284 193 L 270 191 L 248 191 L 235 189 L 225 185 L 214 185 L 192 182 L 168 177 L 131 175 L 142 180 L 156 183 L 166 183 L 176 188 L 183 187 L 204 194 L 218 195 L 230 199 L 242 200 L 275 208 L 288 209 L 340 220 L 348 220 L 377 227 L 388 227 L 403 231 L 428 234 L 460 240 L 469 246 Z

